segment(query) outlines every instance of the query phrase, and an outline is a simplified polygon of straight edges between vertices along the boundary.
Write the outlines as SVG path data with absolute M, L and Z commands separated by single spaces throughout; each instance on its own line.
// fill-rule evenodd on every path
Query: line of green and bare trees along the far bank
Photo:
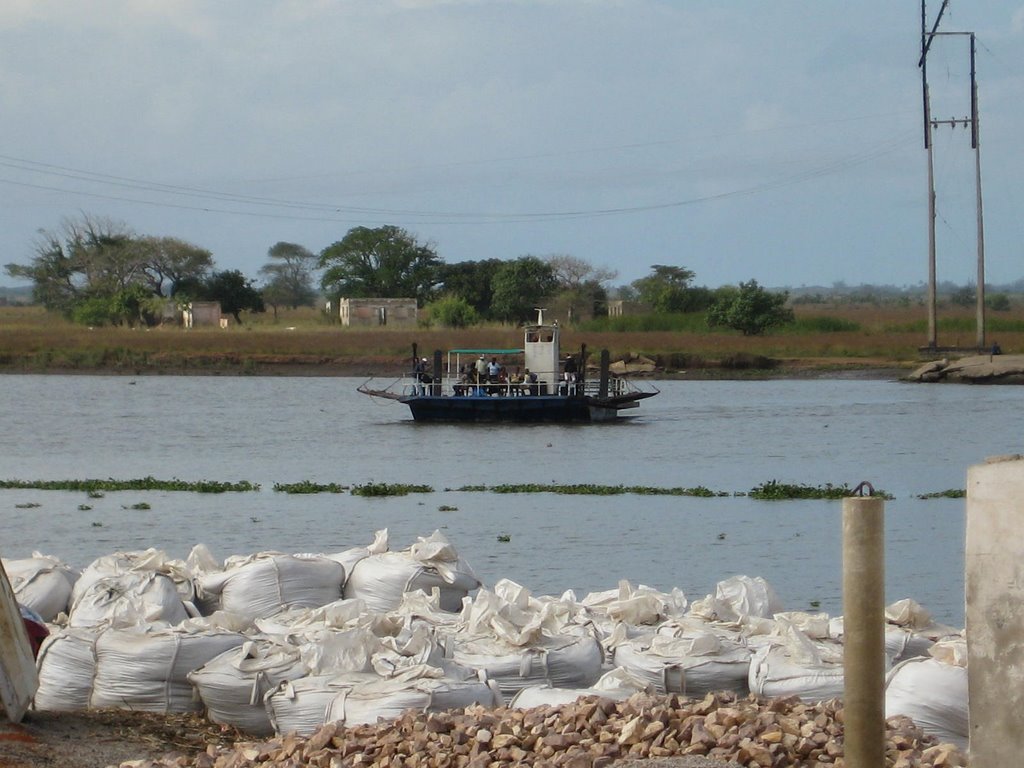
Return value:
M 31 282 L 35 303 L 89 326 L 156 325 L 193 301 L 217 301 L 241 323 L 244 311 L 269 306 L 276 314 L 279 307 L 314 306 L 322 295 L 415 298 L 428 322 L 445 327 L 528 322 L 541 301 L 556 301 L 572 322 L 605 314 L 611 297 L 653 312 L 703 311 L 709 325 L 743 334 L 793 316 L 785 292 L 753 280 L 709 289 L 694 285 L 686 267 L 655 264 L 650 274 L 612 289 L 614 271 L 566 254 L 449 264 L 431 245 L 393 225 L 353 227 L 318 254 L 276 243 L 266 255 L 257 285 L 239 270 L 217 270 L 199 246 L 82 216 L 41 230 L 29 263 L 5 269 Z

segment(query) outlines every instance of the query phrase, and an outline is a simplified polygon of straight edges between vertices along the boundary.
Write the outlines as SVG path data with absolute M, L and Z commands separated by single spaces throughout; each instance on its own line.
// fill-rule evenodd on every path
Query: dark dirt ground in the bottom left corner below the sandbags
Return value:
M 247 737 L 200 715 L 30 712 L 14 724 L 0 711 L 0 768 L 106 768 L 169 753 L 194 756 L 207 744 L 237 740 Z

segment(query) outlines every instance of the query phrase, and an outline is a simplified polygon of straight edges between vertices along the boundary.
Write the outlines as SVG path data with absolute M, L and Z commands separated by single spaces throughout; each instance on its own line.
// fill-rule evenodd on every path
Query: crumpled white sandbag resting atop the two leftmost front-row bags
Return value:
M 77 590 L 68 626 L 175 625 L 188 615 L 177 587 L 168 577 L 153 570 L 129 570 L 90 578 L 87 587 Z

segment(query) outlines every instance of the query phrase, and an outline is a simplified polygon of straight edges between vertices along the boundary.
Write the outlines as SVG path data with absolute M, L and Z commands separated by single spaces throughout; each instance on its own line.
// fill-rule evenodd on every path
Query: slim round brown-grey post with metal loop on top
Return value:
M 843 500 L 844 748 L 847 768 L 886 764 L 885 504 Z

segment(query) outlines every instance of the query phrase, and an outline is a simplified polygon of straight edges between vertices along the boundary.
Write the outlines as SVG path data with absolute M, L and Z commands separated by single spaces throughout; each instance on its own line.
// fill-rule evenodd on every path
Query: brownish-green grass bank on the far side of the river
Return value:
M 423 352 L 455 347 L 517 347 L 509 326 L 464 330 L 347 329 L 312 309 L 247 315 L 221 329 L 75 326 L 39 307 L 0 307 L 0 372 L 211 375 L 399 375 L 413 343 Z M 563 351 L 586 343 L 612 359 L 645 356 L 659 376 L 759 377 L 890 372 L 920 361 L 923 307 L 812 305 L 797 308 L 792 327 L 761 337 L 708 329 L 699 315 L 659 323 L 626 318 L 563 332 Z M 975 341 L 971 310 L 944 310 L 940 344 Z M 1005 352 L 1024 351 L 1024 309 L 989 322 L 988 338 Z

